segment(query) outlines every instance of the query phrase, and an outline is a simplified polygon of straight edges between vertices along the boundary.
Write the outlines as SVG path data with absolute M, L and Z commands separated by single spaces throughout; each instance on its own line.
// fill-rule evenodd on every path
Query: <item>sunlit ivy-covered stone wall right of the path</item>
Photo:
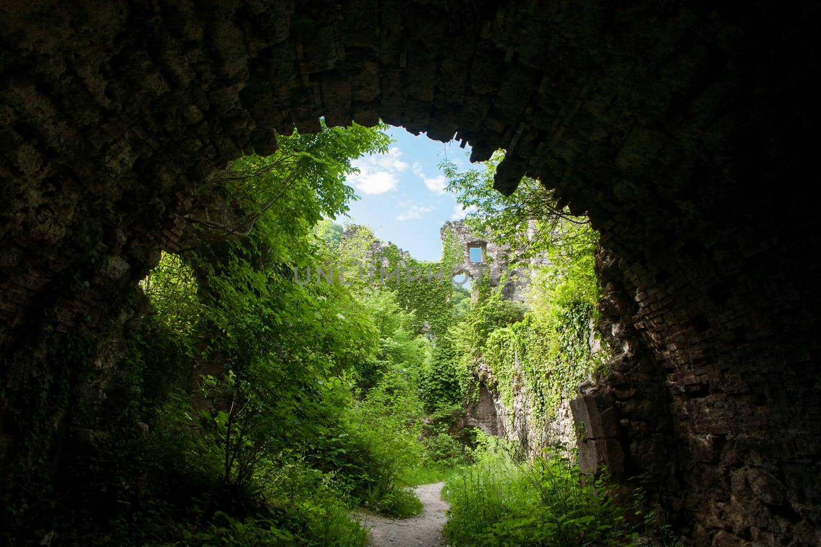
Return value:
M 608 353 L 594 328 L 595 234 L 588 226 L 573 230 L 575 243 L 549 246 L 530 267 L 523 304 L 503 282 L 493 287 L 483 280 L 466 321 L 449 332 L 458 349 L 454 366 L 466 423 L 487 422 L 494 413 L 498 434 L 529 452 L 575 444 L 570 401 L 583 381 L 601 372 Z

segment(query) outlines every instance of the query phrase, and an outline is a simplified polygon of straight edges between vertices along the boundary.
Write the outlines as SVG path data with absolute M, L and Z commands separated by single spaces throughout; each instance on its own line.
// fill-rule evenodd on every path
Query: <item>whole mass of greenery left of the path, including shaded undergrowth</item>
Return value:
M 412 313 L 374 322 L 395 297 L 291 279 L 292 264 L 337 252 L 338 226 L 314 226 L 346 211 L 351 161 L 387 143 L 357 125 L 295 132 L 213 175 L 190 246 L 142 283 L 152 312 L 109 391 L 111 432 L 88 434 L 91 454 L 67 478 L 94 487 L 60 509 L 89 524 L 62 540 L 363 545 L 355 504 L 410 511 L 398 476 L 421 458 L 413 378 L 429 342 Z M 355 399 L 376 362 L 381 376 Z

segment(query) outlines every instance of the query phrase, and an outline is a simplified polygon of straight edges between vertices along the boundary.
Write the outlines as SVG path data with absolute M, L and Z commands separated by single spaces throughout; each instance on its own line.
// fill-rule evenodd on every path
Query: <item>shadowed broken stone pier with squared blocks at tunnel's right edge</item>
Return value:
M 581 471 L 592 474 L 606 466 L 619 481 L 644 488 L 650 503 L 662 504 L 663 517 L 674 521 L 682 508 L 680 463 L 667 412 L 670 400 L 658 390 L 663 371 L 633 326 L 639 307 L 618 259 L 599 251 L 596 271 L 603 289 L 599 331 L 612 358 L 605 367 L 608 376 L 580 385 L 580 397 L 571 401 Z

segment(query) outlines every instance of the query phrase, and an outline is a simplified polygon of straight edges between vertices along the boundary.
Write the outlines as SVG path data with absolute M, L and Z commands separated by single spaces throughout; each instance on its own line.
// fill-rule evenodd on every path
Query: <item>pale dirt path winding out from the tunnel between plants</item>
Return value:
M 424 511 L 419 517 L 393 519 L 360 513 L 362 526 L 373 526 L 370 531 L 370 544 L 374 547 L 390 545 L 391 547 L 442 547 L 442 526 L 445 524 L 445 509 L 449 506 L 442 499 L 442 486 L 437 482 L 432 485 L 421 485 L 416 495 L 422 500 Z

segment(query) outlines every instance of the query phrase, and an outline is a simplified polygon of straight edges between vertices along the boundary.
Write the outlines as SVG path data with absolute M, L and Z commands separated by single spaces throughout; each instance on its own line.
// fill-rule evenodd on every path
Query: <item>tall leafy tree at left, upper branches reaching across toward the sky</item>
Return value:
M 323 216 L 346 211 L 351 160 L 386 142 L 358 125 L 295 132 L 273 156 L 242 157 L 216 175 L 209 198 L 218 207 L 205 204 L 194 217 L 203 230 L 183 258 L 209 325 L 198 356 L 213 371 L 203 412 L 237 495 L 262 459 L 321 433 L 317 380 L 374 350 L 361 308 L 338 286 L 293 283 L 288 264 L 317 253 L 311 234 Z

